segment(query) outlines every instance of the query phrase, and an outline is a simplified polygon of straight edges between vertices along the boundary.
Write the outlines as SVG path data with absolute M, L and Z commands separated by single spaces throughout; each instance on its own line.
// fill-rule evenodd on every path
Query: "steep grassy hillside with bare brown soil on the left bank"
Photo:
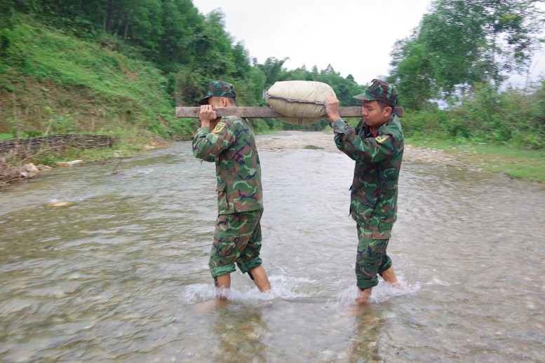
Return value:
M 90 43 L 25 20 L 2 30 L 0 44 L 0 134 L 133 139 L 149 130 L 184 139 L 194 130 L 173 116 L 161 72 L 116 51 L 123 45 L 114 39 Z

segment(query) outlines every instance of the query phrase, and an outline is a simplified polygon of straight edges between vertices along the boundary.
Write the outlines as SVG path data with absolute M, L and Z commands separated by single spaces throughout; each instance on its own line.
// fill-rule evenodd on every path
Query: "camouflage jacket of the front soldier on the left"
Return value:
M 260 157 L 248 121 L 228 116 L 212 132 L 199 128 L 193 139 L 193 154 L 216 164 L 218 214 L 263 208 Z

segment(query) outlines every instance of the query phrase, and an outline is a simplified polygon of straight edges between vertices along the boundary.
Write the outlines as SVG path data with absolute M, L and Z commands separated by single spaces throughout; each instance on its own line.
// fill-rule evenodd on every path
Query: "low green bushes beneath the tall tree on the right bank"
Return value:
M 502 92 L 482 85 L 448 109 L 408 110 L 401 123 L 408 137 L 545 149 L 545 81 L 525 90 Z

